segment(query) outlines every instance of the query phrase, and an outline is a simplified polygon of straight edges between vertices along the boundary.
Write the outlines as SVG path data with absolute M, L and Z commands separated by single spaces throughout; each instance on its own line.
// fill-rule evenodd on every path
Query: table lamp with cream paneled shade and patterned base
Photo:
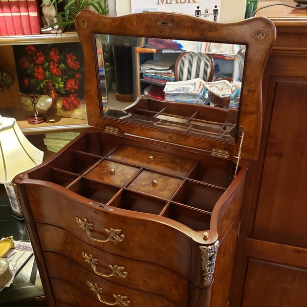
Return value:
M 13 216 L 23 219 L 17 186 L 12 182 L 20 172 L 42 162 L 43 151 L 33 146 L 21 132 L 14 118 L 0 115 L 0 183 L 5 185 Z

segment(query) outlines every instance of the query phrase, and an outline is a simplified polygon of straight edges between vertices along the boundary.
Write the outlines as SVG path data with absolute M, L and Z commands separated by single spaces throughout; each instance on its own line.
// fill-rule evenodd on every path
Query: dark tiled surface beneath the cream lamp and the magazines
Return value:
M 11 214 L 12 209 L 4 185 L 0 184 L 0 238 L 12 235 L 14 240 L 30 242 L 26 223 L 17 221 Z M 0 292 L 0 306 L 45 306 L 45 297 L 34 256 L 18 272 L 11 286 Z

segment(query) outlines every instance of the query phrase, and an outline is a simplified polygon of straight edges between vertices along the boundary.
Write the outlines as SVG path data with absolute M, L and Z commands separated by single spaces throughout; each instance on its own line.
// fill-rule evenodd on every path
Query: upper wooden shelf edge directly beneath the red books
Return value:
M 68 33 L 48 33 L 48 34 L 36 34 L 36 35 L 12 35 L 1 36 L 0 46 L 6 45 L 27 45 L 38 43 L 59 43 L 59 42 L 77 42 L 79 37 L 77 32 Z

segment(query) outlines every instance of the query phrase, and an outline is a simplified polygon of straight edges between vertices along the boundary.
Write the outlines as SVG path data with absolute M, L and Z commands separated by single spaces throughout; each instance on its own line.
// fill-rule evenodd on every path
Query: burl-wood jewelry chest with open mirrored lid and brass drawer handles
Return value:
M 275 27 L 262 17 L 217 24 L 84 10 L 76 29 L 95 128 L 14 179 L 48 306 L 226 306 Z M 140 96 L 144 57 L 215 43 L 246 50 L 238 108 Z M 106 50 L 122 45 L 132 55 L 136 98 L 125 112 L 112 107 L 105 77 Z

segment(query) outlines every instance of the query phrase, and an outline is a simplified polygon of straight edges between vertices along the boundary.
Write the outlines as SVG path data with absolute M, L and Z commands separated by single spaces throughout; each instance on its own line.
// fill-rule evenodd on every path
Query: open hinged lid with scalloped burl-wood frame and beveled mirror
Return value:
M 105 17 L 84 10 L 75 24 L 91 126 L 232 157 L 241 148 L 242 158 L 257 158 L 262 72 L 276 37 L 268 18 L 221 24 L 176 13 Z

